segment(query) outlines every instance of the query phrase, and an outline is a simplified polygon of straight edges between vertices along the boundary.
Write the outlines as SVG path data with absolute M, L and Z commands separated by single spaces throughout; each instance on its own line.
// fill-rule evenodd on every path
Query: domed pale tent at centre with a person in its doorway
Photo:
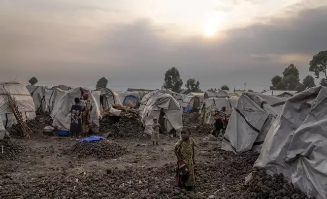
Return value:
M 165 112 L 164 116 L 160 114 L 161 109 Z M 177 136 L 180 136 L 178 135 L 180 134 L 179 129 L 183 127 L 182 109 L 172 95 L 157 92 L 149 97 L 142 112 L 142 121 L 145 125 L 144 132 L 146 134 L 152 134 L 152 119 L 154 117 L 158 118 L 159 124 L 165 124 L 166 129 L 162 129 L 163 126 L 161 125 L 160 130 L 162 133 L 167 134 L 167 132 L 175 129 Z

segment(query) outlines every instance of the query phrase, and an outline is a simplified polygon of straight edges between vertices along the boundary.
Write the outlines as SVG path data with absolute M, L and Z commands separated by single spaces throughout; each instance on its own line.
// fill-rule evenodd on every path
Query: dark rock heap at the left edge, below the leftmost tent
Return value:
M 27 149 L 14 144 L 12 140 L 0 140 L 0 160 L 13 160 L 26 152 Z

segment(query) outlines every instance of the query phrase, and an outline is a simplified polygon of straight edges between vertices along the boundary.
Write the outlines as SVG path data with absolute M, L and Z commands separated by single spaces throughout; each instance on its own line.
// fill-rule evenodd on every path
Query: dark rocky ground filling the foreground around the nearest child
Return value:
M 4 147 L 9 155 L 0 156 L 0 198 L 306 198 L 282 176 L 255 171 L 258 154 L 222 151 L 209 133 L 192 134 L 199 168 L 193 191 L 173 186 L 173 138 L 161 136 L 159 146 L 113 138 L 124 148 L 114 158 L 75 153 L 77 141 L 66 137 L 15 138 L 12 148 Z M 7 148 L 15 147 L 19 151 L 10 155 Z M 253 179 L 245 184 L 251 172 Z

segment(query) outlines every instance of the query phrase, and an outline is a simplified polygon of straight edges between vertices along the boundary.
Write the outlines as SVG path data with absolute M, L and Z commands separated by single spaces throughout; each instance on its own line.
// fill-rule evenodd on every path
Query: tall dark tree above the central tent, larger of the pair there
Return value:
M 183 80 L 179 76 L 179 71 L 173 67 L 166 71 L 164 88 L 174 92 L 180 92 Z

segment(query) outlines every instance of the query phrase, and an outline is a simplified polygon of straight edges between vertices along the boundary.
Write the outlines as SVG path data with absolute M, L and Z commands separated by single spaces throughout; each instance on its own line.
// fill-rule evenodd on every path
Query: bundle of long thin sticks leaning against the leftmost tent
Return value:
M 3 97 L 5 99 L 6 104 L 11 109 L 13 114 L 15 115 L 15 118 L 17 120 L 17 123 L 20 128 L 21 136 L 29 138 L 29 135 L 32 133 L 32 130 L 26 125 L 26 123 L 23 120 L 22 115 L 20 114 L 17 103 L 15 100 L 15 97 L 13 97 L 8 90 L 6 90 L 5 87 L 0 88 L 1 91 L 4 93 Z

